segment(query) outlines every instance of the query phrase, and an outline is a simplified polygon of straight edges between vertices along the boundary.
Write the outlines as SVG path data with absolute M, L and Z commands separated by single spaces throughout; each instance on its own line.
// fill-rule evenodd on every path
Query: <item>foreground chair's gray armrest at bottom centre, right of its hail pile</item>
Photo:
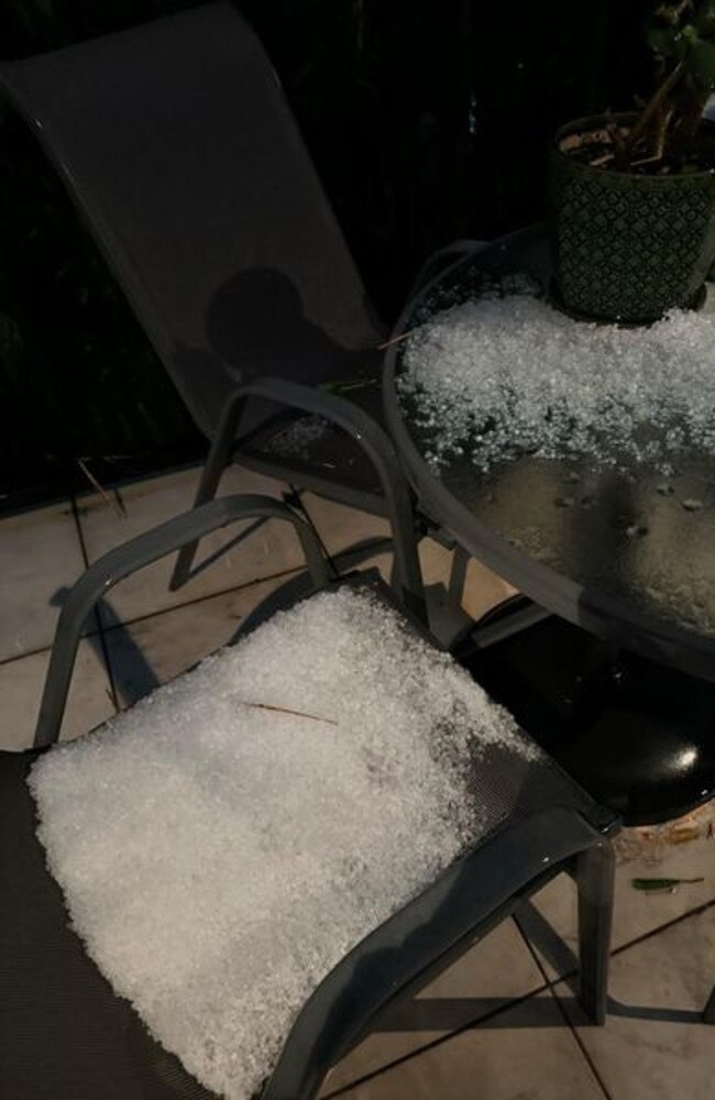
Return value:
M 396 1001 L 422 988 L 574 856 L 604 844 L 603 833 L 568 805 L 507 821 L 330 971 L 295 1020 L 262 1100 L 317 1096 L 327 1071 Z

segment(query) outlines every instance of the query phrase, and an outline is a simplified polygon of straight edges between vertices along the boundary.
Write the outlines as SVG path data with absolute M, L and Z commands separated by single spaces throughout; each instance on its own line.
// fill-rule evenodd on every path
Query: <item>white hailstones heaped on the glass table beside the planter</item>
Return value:
M 715 451 L 715 321 L 672 310 L 649 328 L 574 321 L 528 295 L 438 314 L 409 338 L 403 399 L 435 463 L 521 454 L 647 462 Z

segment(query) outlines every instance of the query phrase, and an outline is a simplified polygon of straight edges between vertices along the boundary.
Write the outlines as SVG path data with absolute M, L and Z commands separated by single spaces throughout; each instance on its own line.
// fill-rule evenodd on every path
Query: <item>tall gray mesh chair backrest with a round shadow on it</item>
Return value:
M 0 66 L 207 433 L 246 374 L 356 373 L 378 330 L 283 96 L 230 3 Z

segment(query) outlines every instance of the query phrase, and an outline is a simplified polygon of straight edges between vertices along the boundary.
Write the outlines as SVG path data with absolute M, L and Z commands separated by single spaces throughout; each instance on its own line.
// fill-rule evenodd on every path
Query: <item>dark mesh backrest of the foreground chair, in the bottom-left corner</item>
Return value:
M 35 832 L 26 777 L 36 758 L 0 754 L 0 1091 L 23 1100 L 210 1100 L 69 928 Z

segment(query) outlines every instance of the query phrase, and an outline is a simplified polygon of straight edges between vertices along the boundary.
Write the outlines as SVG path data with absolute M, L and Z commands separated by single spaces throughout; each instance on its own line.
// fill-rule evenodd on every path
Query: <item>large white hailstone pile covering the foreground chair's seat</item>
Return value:
M 483 834 L 487 746 L 539 757 L 450 657 L 341 588 L 53 749 L 30 785 L 105 977 L 249 1100 L 322 978 Z

